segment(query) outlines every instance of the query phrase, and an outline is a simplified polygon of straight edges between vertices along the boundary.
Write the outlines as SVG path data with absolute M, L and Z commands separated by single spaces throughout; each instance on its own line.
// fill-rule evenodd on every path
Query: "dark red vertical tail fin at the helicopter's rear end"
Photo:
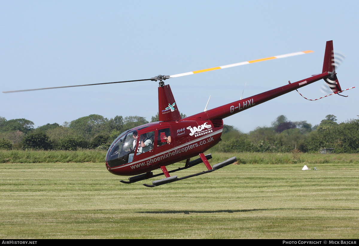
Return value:
M 333 50 L 333 41 L 327 41 L 324 54 L 323 70 L 322 73 L 328 72 L 331 75 L 324 79 L 327 85 L 333 92 L 342 91 L 335 73 L 335 63 L 334 63 L 334 50 Z

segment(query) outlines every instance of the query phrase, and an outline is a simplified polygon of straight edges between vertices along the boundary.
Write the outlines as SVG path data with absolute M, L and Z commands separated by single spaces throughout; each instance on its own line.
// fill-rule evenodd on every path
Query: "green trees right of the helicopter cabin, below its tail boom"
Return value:
M 335 115 L 327 115 L 319 125 L 307 121 L 291 122 L 279 115 L 270 127 L 258 127 L 241 133 L 224 127 L 222 141 L 214 150 L 221 152 L 292 152 L 318 153 L 331 149 L 335 153 L 359 152 L 359 120 L 337 123 Z

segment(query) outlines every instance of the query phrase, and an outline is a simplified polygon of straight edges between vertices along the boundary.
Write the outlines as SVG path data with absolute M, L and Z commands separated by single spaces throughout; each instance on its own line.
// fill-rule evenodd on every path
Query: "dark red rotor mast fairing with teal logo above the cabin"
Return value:
M 176 101 L 169 85 L 158 87 L 158 119 L 159 121 L 180 120 Z

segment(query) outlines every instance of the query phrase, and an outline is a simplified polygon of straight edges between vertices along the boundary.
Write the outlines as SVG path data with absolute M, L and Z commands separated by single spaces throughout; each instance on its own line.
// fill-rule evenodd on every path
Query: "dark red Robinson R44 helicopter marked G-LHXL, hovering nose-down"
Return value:
M 120 180 L 122 183 L 125 184 L 131 184 L 141 180 L 146 180 L 164 175 L 165 178 L 163 179 L 152 181 L 151 184 L 143 184 L 147 187 L 155 187 L 191 178 L 194 176 L 207 174 L 209 172 L 216 171 L 222 167 L 236 162 L 237 158 L 234 156 L 228 160 L 211 166 L 208 162 L 208 160 L 212 158 L 211 154 L 204 155 L 205 151 L 209 150 L 211 147 L 215 146 L 221 141 L 224 118 L 242 112 L 243 110 L 252 108 L 268 100 L 274 99 L 278 96 L 284 95 L 293 90 L 297 90 L 300 87 L 312 84 L 313 82 L 322 79 L 330 87 L 333 92 L 332 94 L 341 95 L 339 93 L 345 91 L 341 89 L 336 76 L 335 67 L 337 66 L 337 62 L 334 58 L 335 56 L 332 41 L 326 42 L 321 74 L 312 75 L 311 77 L 297 82 L 291 83 L 289 81 L 287 85 L 280 86 L 269 91 L 265 91 L 264 93 L 253 95 L 248 98 L 242 99 L 241 97 L 240 100 L 225 104 L 214 109 L 207 110 L 206 105 L 204 112 L 197 113 L 195 115 L 185 118 L 181 118 L 180 112 L 176 105 L 176 101 L 174 100 L 171 91 L 171 87 L 169 86 L 169 84 L 165 85 L 164 83 L 166 79 L 186 76 L 190 74 L 197 74 L 200 72 L 213 71 L 228 67 L 241 66 L 254 62 L 297 56 L 311 52 L 313 51 L 289 53 L 280 56 L 239 62 L 230 65 L 213 67 L 171 76 L 158 75 L 150 79 L 105 82 L 87 85 L 47 87 L 18 91 L 5 91 L 4 93 L 88 85 L 114 84 L 145 80 L 158 81 L 159 121 L 135 127 L 120 134 L 120 136 L 118 136 L 115 141 L 113 141 L 110 145 L 106 153 L 105 164 L 107 170 L 112 174 L 120 176 L 131 176 L 130 178 L 128 178 L 128 181 Z M 352 88 L 354 87 L 351 87 L 349 89 Z M 199 158 L 191 161 L 191 158 L 197 156 Z M 170 171 L 167 170 L 166 166 L 179 161 L 186 161 L 186 163 L 183 167 L 179 167 Z M 204 163 L 207 170 L 183 177 L 178 177 L 177 175 L 170 175 L 170 173 L 188 169 L 200 163 Z M 158 174 L 153 174 L 152 171 L 157 169 L 161 169 L 162 172 Z

